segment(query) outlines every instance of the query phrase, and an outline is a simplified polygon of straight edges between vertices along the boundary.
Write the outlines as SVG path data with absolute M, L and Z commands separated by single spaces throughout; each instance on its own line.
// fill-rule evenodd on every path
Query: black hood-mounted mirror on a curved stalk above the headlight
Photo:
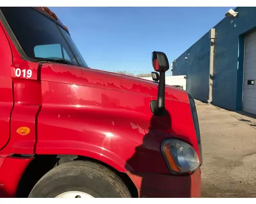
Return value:
M 165 114 L 165 71 L 169 69 L 167 56 L 162 52 L 152 53 L 152 64 L 155 71 L 160 73 L 157 100 L 151 101 L 151 111 L 154 115 L 162 116 Z M 152 78 L 153 78 L 152 72 Z M 154 76 L 155 77 L 155 76 Z M 154 80 L 154 79 L 153 79 Z

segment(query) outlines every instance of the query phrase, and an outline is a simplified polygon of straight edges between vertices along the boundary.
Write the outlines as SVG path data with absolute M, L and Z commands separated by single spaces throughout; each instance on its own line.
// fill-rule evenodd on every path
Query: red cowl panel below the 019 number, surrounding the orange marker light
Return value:
M 34 154 L 36 115 L 41 106 L 40 81 L 13 78 L 13 93 L 11 139 L 6 150 L 11 147 L 15 154 Z M 16 133 L 21 126 L 29 127 L 30 133 L 26 136 Z

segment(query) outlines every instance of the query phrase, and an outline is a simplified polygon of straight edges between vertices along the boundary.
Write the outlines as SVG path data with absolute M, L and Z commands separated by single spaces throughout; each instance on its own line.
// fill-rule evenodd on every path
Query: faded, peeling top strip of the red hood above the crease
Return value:
M 158 91 L 158 84 L 153 81 L 102 70 L 55 63 L 45 63 L 42 65 L 41 80 L 150 95 L 153 97 L 157 96 Z M 188 103 L 188 96 L 184 90 L 168 85 L 165 90 L 166 99 Z

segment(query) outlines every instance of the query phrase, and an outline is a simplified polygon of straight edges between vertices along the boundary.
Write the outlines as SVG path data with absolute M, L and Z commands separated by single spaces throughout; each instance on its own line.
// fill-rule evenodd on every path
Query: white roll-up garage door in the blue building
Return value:
M 256 114 L 256 32 L 245 37 L 243 110 Z

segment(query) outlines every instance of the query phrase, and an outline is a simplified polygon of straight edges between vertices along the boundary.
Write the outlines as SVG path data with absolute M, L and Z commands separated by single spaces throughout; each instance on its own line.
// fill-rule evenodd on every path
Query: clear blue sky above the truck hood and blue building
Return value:
M 178 58 L 233 7 L 50 7 L 91 68 L 150 73 L 151 53 Z

